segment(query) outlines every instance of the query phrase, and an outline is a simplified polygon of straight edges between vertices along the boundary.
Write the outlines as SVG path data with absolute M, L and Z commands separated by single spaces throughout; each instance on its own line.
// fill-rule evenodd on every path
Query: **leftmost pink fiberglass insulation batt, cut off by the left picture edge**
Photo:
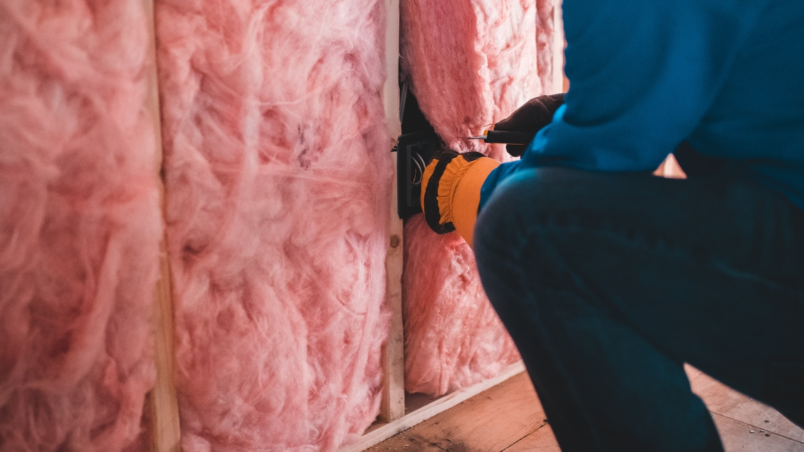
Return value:
M 0 450 L 142 443 L 162 221 L 141 2 L 0 2 Z

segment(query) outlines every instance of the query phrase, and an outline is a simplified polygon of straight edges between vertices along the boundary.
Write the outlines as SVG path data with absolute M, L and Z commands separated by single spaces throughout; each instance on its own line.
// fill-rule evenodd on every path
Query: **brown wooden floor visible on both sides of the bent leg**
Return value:
M 687 375 L 712 412 L 726 452 L 804 452 L 804 430 L 775 410 L 695 368 L 687 368 Z M 524 372 L 369 449 L 388 450 L 559 452 Z

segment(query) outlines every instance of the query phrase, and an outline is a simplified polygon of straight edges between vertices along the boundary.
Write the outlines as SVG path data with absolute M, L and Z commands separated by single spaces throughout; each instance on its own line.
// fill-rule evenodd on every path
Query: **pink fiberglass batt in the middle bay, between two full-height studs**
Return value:
M 383 8 L 157 2 L 185 452 L 335 450 L 378 413 Z

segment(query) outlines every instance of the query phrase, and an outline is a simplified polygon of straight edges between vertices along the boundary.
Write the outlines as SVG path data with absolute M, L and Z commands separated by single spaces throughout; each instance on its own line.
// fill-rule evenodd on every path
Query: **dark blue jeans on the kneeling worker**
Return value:
M 723 450 L 683 363 L 804 420 L 804 212 L 750 180 L 520 171 L 475 257 L 565 452 Z

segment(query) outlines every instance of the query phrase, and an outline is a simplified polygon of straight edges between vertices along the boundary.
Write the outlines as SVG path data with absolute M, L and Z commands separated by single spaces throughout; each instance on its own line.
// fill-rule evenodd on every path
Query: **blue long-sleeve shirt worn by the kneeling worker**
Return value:
M 804 208 L 804 1 L 564 0 L 563 10 L 565 103 L 521 160 L 489 175 L 481 206 L 521 168 L 653 171 L 687 142 Z

